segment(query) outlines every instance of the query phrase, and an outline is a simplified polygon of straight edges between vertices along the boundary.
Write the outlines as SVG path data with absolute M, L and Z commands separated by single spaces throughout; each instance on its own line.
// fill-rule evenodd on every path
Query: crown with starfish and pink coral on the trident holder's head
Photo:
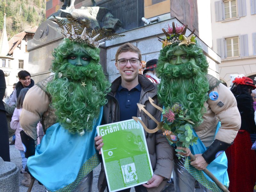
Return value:
M 163 39 L 157 36 L 158 41 L 163 43 L 163 47 L 167 45 L 175 44 L 175 43 L 178 43 L 179 46 L 183 44 L 186 46 L 190 44 L 196 44 L 196 40 L 195 40 L 196 36 L 193 35 L 195 32 L 195 29 L 189 36 L 185 36 L 187 28 L 188 28 L 188 25 L 180 26 L 176 24 L 176 27 L 175 27 L 174 22 L 172 22 L 172 27 L 168 25 L 167 31 L 164 28 L 162 28 L 166 37 Z

